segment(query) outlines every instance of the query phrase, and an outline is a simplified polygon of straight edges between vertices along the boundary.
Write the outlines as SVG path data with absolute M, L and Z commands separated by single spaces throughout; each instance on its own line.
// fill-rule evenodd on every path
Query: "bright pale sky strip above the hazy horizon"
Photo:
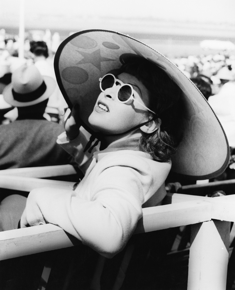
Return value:
M 0 10 L 18 14 L 21 0 L 0 0 Z M 235 0 L 24 0 L 25 12 L 235 24 Z

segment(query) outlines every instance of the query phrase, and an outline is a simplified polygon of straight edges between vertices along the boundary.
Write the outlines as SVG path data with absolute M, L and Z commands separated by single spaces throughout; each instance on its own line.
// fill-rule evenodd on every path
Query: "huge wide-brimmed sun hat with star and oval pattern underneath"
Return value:
M 137 55 L 162 68 L 183 92 L 185 130 L 177 153 L 172 157 L 172 171 L 193 180 L 220 175 L 229 162 L 229 146 L 207 100 L 177 66 L 136 39 L 114 31 L 85 30 L 60 44 L 54 68 L 69 107 L 79 104 L 82 125 L 92 133 L 88 117 L 101 92 L 99 78 L 119 69 L 125 59 Z

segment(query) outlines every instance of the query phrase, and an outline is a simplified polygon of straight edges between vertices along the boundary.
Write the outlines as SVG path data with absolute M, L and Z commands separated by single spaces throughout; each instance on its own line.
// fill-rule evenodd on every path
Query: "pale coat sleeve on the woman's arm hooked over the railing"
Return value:
M 113 166 L 94 182 L 90 199 L 74 191 L 34 189 L 26 204 L 28 224 L 56 224 L 101 255 L 125 247 L 142 217 L 143 186 L 133 168 Z

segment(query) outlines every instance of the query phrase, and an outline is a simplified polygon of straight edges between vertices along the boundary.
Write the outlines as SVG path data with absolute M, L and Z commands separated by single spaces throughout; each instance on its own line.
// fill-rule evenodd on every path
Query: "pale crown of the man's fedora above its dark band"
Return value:
M 19 94 L 32 93 L 42 82 L 42 75 L 34 65 L 23 65 L 12 73 L 12 88 Z

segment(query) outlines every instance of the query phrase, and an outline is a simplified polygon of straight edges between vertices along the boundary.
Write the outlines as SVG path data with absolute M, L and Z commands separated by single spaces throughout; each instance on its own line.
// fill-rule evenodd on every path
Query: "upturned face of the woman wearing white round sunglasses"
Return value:
M 147 88 L 136 77 L 128 73 L 121 73 L 117 79 L 124 84 L 132 85 L 134 99 L 145 106 L 149 106 L 149 93 Z M 98 96 L 94 110 L 89 116 L 89 123 L 99 132 L 105 134 L 124 133 L 129 129 L 148 120 L 148 110 L 138 102 L 130 100 L 127 103 L 120 103 L 117 98 L 117 91 L 120 84 L 107 88 Z

